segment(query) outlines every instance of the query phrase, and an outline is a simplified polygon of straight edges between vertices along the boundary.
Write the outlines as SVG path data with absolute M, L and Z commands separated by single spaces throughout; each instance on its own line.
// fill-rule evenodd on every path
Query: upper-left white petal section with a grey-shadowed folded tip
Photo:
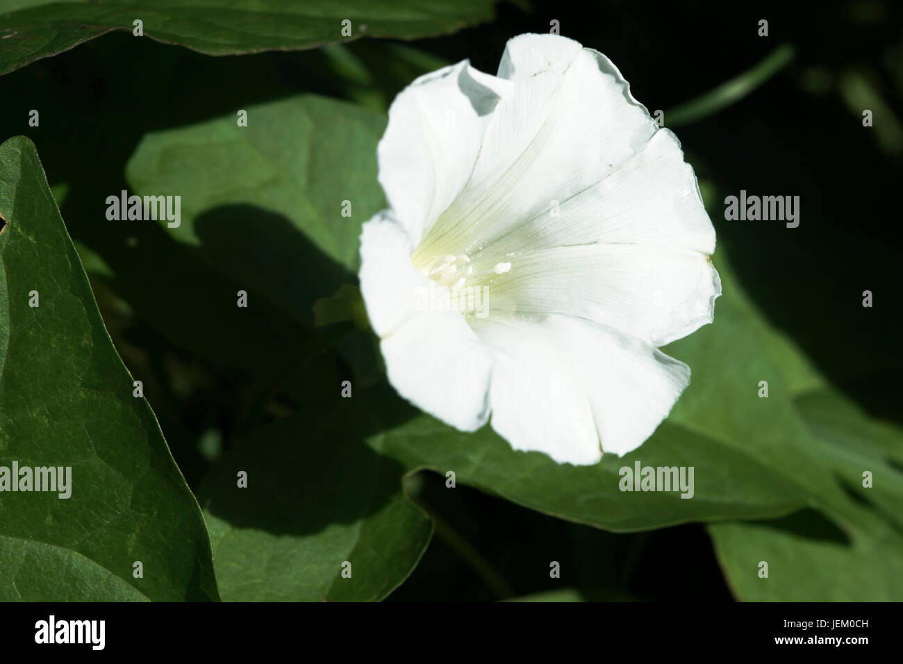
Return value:
M 509 89 L 461 61 L 405 88 L 379 142 L 379 183 L 398 220 L 420 241 L 470 179 L 499 96 Z

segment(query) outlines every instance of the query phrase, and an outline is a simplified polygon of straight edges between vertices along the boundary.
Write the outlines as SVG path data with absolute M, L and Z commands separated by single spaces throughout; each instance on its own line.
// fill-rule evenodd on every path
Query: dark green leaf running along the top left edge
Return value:
M 115 30 L 180 44 L 209 55 L 311 49 L 361 36 L 416 39 L 452 33 L 492 18 L 492 0 L 107 0 L 0 3 L 4 17 L 0 74 L 68 51 Z M 14 11 L 18 10 L 18 11 Z M 342 34 L 343 21 L 350 34 Z M 349 25 L 349 23 L 345 23 Z M 347 33 L 347 31 L 346 31 Z

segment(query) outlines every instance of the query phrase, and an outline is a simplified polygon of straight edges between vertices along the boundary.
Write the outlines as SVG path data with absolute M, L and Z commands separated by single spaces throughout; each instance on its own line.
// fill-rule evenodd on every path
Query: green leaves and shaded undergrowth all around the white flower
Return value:
M 681 551 L 681 569 L 711 573 L 684 575 L 706 597 L 725 598 L 724 582 L 749 601 L 903 597 L 903 355 L 879 333 L 898 323 L 898 256 L 859 221 L 892 215 L 824 196 L 874 194 L 895 172 L 897 55 L 825 54 L 802 34 L 732 58 L 722 43 L 723 68 L 682 55 L 698 64 L 687 89 L 682 62 L 662 58 L 668 22 L 648 26 L 645 58 L 582 26 L 598 38 L 586 45 L 629 63 L 648 108 L 656 96 L 673 108 L 666 126 L 685 125 L 724 295 L 712 325 L 665 349 L 693 379 L 655 435 L 573 467 L 398 397 L 357 286 L 360 226 L 385 206 L 389 102 L 449 61 L 491 70 L 511 33 L 434 47 L 358 37 L 450 33 L 491 18 L 492 3 L 226 4 L 0 0 L 0 73 L 13 72 L 0 138 L 27 132 L 43 161 L 21 136 L 0 145 L 0 466 L 73 468 L 68 500 L 0 492 L 0 600 L 436 599 L 445 577 L 462 598 L 660 598 L 656 570 Z M 518 32 L 545 31 L 539 15 Z M 151 40 L 131 35 L 136 18 Z M 680 39 L 682 53 L 712 52 Z M 221 59 L 158 42 L 303 52 Z M 855 69 L 832 64 L 843 58 Z M 866 107 L 876 124 L 863 139 Z M 32 108 L 41 126 L 27 125 Z M 740 127 L 756 144 L 742 158 Z M 791 141 L 814 155 L 806 168 L 774 158 Z M 836 168 L 838 154 L 856 167 Z M 754 185 L 802 190 L 801 227 L 722 221 L 724 195 Z M 181 225 L 105 220 L 102 202 L 123 189 L 180 195 Z M 621 491 L 635 463 L 693 467 L 693 498 Z

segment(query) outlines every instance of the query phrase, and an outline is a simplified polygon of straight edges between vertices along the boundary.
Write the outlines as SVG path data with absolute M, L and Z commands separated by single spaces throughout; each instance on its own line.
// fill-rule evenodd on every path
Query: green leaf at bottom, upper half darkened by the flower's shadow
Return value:
M 257 429 L 202 483 L 224 600 L 376 601 L 414 570 L 432 523 L 357 402 Z

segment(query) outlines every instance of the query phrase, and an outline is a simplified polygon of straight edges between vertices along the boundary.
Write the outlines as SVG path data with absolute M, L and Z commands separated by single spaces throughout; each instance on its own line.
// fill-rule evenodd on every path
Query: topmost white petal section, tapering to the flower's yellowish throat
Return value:
M 615 173 L 657 125 L 601 53 L 553 34 L 507 43 L 498 102 L 470 182 L 418 253 L 459 245 L 470 254 Z M 416 256 L 416 254 L 415 254 Z

